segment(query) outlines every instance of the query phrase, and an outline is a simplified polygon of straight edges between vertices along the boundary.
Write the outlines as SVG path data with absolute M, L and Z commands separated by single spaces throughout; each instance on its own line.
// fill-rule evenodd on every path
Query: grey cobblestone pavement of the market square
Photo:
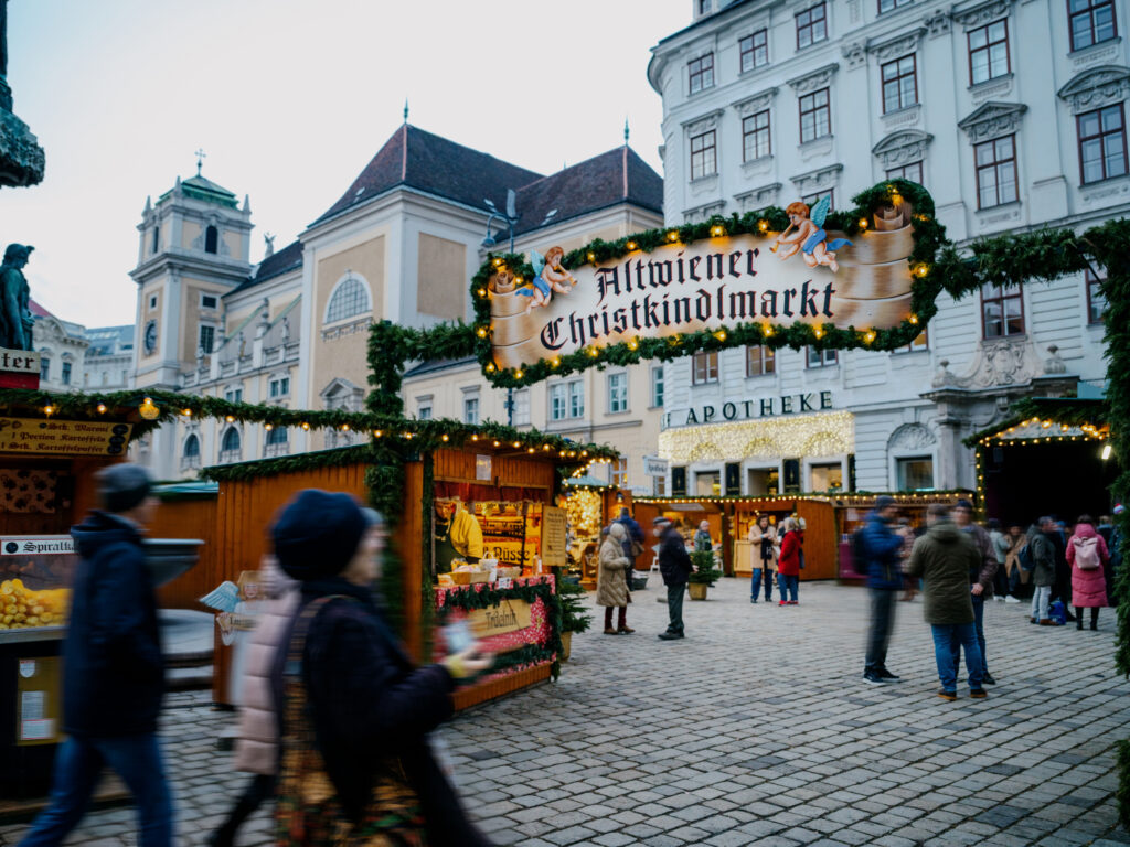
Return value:
M 652 577 L 654 584 L 657 577 Z M 999 845 L 1112 847 L 1113 742 L 1130 735 L 1114 674 L 1114 613 L 1098 632 L 1033 627 L 1027 606 L 985 610 L 988 700 L 936 698 L 921 603 L 899 603 L 888 665 L 861 680 L 862 590 L 801 585 L 800 605 L 750 605 L 724 579 L 687 602 L 684 641 L 657 591 L 638 631 L 574 636 L 556 684 L 457 718 L 441 737 L 462 794 L 499 845 Z M 591 602 L 591 597 L 590 597 Z M 200 695 L 165 717 L 179 841 L 203 844 L 245 777 L 215 737 L 231 715 Z M 131 809 L 92 813 L 68 844 L 132 845 Z M 0 829 L 16 844 L 21 827 Z M 266 814 L 240 844 L 269 842 Z

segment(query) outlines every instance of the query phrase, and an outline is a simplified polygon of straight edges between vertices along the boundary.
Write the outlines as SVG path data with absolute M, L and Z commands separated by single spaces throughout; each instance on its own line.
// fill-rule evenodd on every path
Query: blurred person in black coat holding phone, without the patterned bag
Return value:
M 308 603 L 331 597 L 308 623 L 302 661 L 316 746 L 351 822 L 366 812 L 377 766 L 399 759 L 419 797 L 429 845 L 487 845 L 436 763 L 427 734 L 451 717 L 457 681 L 487 670 L 490 661 L 472 647 L 442 664 L 412 665 L 372 591 L 384 538 L 377 513 L 348 495 L 318 490 L 298 494 L 273 527 L 279 565 L 302 582 L 295 620 Z M 282 737 L 288 653 L 279 650 L 272 673 Z

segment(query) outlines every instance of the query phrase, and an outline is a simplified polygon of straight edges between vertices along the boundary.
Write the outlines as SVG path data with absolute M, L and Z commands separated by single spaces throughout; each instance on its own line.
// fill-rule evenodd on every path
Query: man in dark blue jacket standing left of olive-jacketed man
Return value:
M 877 686 L 899 681 L 887 670 L 887 645 L 895 626 L 895 601 L 903 587 L 899 557 L 910 534 L 905 527 L 897 532 L 890 529 L 897 514 L 894 498 L 880 495 L 875 499 L 875 510 L 867 516 L 867 525 L 861 531 L 867 586 L 871 594 L 871 628 L 867 637 L 863 679 Z

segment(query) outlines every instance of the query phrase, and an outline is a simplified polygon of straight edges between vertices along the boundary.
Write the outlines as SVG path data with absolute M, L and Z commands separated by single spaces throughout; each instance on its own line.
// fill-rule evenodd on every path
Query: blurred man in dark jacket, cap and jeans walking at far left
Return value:
M 173 809 L 157 742 L 164 662 L 141 533 L 157 505 L 134 464 L 97 477 L 102 510 L 71 530 L 80 560 L 63 643 L 63 725 L 51 805 L 21 847 L 58 845 L 81 820 L 102 769 L 138 805 L 141 847 L 173 842 Z

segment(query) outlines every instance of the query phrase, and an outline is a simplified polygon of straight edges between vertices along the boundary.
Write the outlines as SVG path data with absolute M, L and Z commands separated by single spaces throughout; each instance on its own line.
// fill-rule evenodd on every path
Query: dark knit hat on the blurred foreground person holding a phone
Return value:
M 340 574 L 373 524 L 366 512 L 347 494 L 299 491 L 271 529 L 279 567 L 301 580 Z

